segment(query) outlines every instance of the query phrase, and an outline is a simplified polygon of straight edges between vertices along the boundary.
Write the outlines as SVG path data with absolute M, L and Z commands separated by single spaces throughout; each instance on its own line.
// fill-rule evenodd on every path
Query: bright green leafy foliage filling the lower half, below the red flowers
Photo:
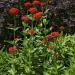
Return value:
M 38 43 L 40 37 L 23 39 L 15 53 L 0 50 L 0 75 L 74 75 L 75 35 L 57 38 L 55 49 Z M 34 43 L 34 44 L 33 44 Z M 4 48 L 3 48 L 4 49 Z

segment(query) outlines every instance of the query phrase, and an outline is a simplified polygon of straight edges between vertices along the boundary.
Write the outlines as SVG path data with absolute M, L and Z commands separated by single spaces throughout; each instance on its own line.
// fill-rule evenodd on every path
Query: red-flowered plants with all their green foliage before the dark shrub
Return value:
M 11 2 L 0 75 L 75 75 L 75 35 L 66 33 L 59 14 L 50 15 L 44 0 Z

